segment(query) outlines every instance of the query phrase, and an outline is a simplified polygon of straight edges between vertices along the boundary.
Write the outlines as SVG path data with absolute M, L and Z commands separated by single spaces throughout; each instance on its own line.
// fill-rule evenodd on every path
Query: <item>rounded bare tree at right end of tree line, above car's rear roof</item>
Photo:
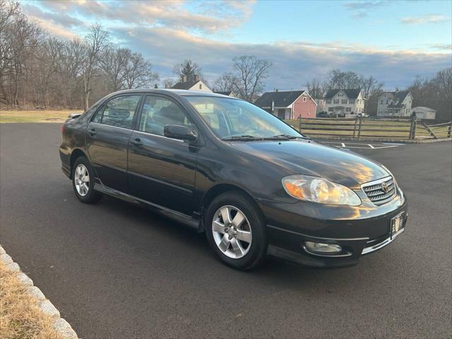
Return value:
M 153 66 L 141 53 L 133 53 L 126 66 L 124 84 L 126 88 L 150 88 L 157 83 L 159 76 Z

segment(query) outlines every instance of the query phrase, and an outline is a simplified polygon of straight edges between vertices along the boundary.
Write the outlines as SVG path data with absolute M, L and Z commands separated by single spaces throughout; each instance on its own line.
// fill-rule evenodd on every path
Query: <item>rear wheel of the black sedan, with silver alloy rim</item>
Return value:
M 78 157 L 73 165 L 72 186 L 82 203 L 97 203 L 102 194 L 94 190 L 94 170 L 86 157 Z

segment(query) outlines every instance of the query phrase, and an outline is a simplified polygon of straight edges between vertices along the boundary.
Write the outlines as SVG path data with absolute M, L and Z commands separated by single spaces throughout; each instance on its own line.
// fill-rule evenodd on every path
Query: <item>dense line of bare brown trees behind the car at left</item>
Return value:
M 158 80 L 150 61 L 115 47 L 101 25 L 82 39 L 60 39 L 28 20 L 18 3 L 0 0 L 0 104 L 87 109 L 107 93 Z

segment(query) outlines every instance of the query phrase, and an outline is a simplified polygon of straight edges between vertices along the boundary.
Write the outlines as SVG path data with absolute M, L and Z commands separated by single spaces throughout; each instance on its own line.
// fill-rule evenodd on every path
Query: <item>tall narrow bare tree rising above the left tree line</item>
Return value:
M 85 37 L 86 54 L 83 60 L 82 77 L 83 77 L 83 94 L 85 97 L 85 110 L 90 107 L 90 92 L 93 77 L 97 75 L 99 69 L 100 57 L 102 52 L 108 46 L 108 32 L 102 30 L 102 26 L 98 23 L 91 26 L 90 32 Z

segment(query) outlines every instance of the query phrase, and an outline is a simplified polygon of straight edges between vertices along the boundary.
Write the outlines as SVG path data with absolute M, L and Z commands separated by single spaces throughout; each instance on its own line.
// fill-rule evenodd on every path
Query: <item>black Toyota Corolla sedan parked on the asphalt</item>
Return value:
M 152 208 L 205 232 L 234 268 L 268 255 L 351 266 L 405 230 L 407 201 L 386 167 L 236 98 L 124 90 L 62 134 L 61 168 L 79 201 L 108 194 Z

